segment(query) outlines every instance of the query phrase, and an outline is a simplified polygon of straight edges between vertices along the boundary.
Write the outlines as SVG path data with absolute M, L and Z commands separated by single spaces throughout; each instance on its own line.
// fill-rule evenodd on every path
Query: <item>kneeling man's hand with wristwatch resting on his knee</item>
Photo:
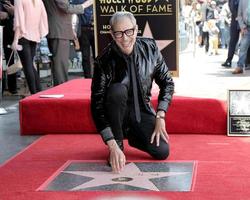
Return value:
M 162 114 L 163 113 L 163 114 Z M 157 113 L 159 116 L 165 116 L 164 112 Z M 151 136 L 151 144 L 154 143 L 154 140 L 156 141 L 156 146 L 160 146 L 160 138 L 162 138 L 166 143 L 168 143 L 169 136 L 166 131 L 165 127 L 165 119 L 162 118 L 156 118 L 155 122 L 155 130 Z

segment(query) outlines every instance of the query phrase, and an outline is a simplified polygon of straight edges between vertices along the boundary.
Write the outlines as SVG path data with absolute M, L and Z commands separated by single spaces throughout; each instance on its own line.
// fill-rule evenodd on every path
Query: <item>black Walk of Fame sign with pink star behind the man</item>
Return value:
M 109 20 L 117 11 L 134 14 L 138 36 L 154 38 L 173 76 L 178 76 L 178 1 L 174 0 L 96 0 L 96 54 L 112 40 Z

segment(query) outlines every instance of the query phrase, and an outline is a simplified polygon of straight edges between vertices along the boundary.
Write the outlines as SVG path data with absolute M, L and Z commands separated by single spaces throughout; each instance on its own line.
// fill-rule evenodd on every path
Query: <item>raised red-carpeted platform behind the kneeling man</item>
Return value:
M 22 135 L 52 133 L 95 133 L 90 117 L 90 79 L 72 80 L 20 101 Z M 158 89 L 152 92 L 157 105 Z M 64 94 L 60 99 L 40 98 L 41 94 Z M 169 133 L 225 134 L 226 103 L 217 99 L 174 96 L 167 113 Z

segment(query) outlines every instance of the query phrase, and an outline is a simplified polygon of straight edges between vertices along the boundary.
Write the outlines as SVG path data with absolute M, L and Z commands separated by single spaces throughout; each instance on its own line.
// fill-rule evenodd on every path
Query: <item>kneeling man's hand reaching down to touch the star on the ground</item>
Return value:
M 126 164 L 126 157 L 115 140 L 109 140 L 107 144 L 110 151 L 109 162 L 111 164 L 112 171 L 120 173 Z

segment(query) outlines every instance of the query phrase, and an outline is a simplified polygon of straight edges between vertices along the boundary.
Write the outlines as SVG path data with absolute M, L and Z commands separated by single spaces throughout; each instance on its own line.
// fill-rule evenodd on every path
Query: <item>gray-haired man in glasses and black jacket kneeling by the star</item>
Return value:
M 174 92 L 168 67 L 153 39 L 137 37 L 136 19 L 117 12 L 110 19 L 113 41 L 95 60 L 91 110 L 97 130 L 109 148 L 112 170 L 126 163 L 123 139 L 154 159 L 169 155 L 165 113 Z M 153 81 L 160 93 L 157 112 L 150 98 Z

